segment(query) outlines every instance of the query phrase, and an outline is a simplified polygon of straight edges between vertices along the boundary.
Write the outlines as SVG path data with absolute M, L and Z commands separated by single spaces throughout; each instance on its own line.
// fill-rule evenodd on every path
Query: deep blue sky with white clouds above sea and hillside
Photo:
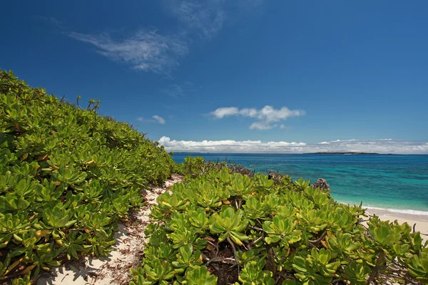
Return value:
M 7 1 L 0 68 L 171 151 L 428 153 L 427 1 Z

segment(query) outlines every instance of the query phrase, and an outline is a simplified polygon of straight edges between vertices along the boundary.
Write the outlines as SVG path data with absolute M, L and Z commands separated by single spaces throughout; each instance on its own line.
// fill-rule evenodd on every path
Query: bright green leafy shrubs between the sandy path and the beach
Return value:
M 365 227 L 364 209 L 287 175 L 248 177 L 200 157 L 180 169 L 186 182 L 151 209 L 133 285 L 428 281 L 427 244 L 407 223 Z

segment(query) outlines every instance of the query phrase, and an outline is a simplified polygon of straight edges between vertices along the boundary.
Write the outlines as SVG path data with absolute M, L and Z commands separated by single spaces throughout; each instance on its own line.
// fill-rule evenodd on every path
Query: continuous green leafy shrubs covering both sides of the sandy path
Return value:
M 80 98 L 79 98 L 80 99 Z M 186 158 L 126 123 L 63 103 L 0 71 L 0 281 L 105 256 L 141 190 L 172 172 L 158 197 L 132 284 L 425 284 L 428 249 L 408 224 L 337 204 L 287 175 Z

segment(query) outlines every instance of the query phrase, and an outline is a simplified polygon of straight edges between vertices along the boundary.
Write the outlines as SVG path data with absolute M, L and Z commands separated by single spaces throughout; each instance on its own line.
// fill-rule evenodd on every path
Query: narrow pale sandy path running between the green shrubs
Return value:
M 146 242 L 144 229 L 148 223 L 150 206 L 156 204 L 156 198 L 169 190 L 171 185 L 181 181 L 180 175 L 172 175 L 163 187 L 153 187 L 146 192 L 147 204 L 131 215 L 130 222 L 118 224 L 119 231 L 114 234 L 116 245 L 113 246 L 113 252 L 110 252 L 108 257 L 86 257 L 78 261 L 73 259 L 67 264 L 51 269 L 49 273 L 42 274 L 36 284 L 128 284 L 129 270 L 131 267 L 138 266 L 141 261 Z

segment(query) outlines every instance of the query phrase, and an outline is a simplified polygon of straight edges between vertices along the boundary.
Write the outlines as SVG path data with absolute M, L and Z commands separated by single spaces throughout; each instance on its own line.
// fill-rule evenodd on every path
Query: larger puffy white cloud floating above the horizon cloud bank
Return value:
M 250 130 L 270 130 L 276 128 L 278 125 L 273 124 L 281 120 L 287 120 L 291 117 L 299 117 L 305 115 L 305 110 L 290 110 L 287 107 L 282 107 L 280 109 L 275 109 L 270 105 L 265 105 L 265 107 L 260 110 L 255 108 L 243 108 L 239 109 L 236 107 L 225 107 L 218 108 L 210 113 L 215 118 L 222 119 L 228 116 L 243 116 L 248 118 L 255 118 L 258 121 L 250 125 Z M 280 128 L 285 128 L 285 125 L 280 125 Z

